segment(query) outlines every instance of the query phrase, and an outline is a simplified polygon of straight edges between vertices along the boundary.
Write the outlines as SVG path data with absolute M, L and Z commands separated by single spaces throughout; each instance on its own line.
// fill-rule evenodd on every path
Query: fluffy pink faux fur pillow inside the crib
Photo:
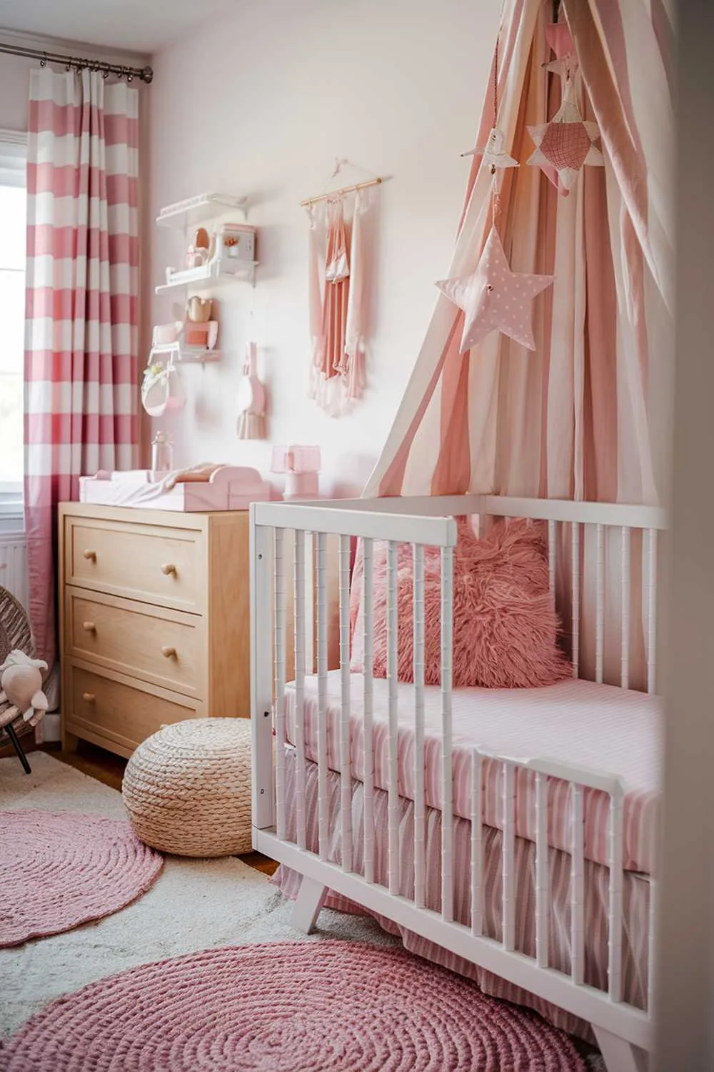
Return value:
M 426 548 L 425 668 L 427 685 L 440 681 L 440 554 Z M 413 566 L 408 545 L 398 549 L 398 676 L 413 681 Z M 386 557 L 375 553 L 375 676 L 386 676 Z M 361 570 L 354 584 L 361 593 Z M 454 553 L 454 686 L 533 688 L 571 673 L 558 646 L 560 623 L 548 587 L 548 560 L 538 525 L 499 522 L 477 539 L 459 519 Z M 363 611 L 354 622 L 351 669 L 364 669 Z

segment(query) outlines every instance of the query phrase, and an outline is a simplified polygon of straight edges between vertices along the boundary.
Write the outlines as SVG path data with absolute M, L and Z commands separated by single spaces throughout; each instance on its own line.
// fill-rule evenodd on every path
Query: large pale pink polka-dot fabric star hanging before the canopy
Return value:
M 460 353 L 465 354 L 491 331 L 502 331 L 535 349 L 531 324 L 536 294 L 550 286 L 555 276 L 511 271 L 496 227 L 491 227 L 472 276 L 444 279 L 437 286 L 466 313 Z

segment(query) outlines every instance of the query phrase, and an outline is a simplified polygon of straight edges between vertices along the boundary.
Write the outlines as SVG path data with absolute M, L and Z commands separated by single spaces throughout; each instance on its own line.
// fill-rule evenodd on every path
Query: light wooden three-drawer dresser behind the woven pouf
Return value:
M 59 507 L 62 742 L 248 716 L 248 513 Z

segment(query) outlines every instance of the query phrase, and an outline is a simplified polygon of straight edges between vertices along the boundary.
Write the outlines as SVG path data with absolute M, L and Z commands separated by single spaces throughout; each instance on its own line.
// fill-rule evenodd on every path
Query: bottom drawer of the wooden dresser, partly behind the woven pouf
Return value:
M 74 662 L 66 674 L 66 729 L 124 756 L 162 726 L 197 715 L 188 699 L 157 696 Z

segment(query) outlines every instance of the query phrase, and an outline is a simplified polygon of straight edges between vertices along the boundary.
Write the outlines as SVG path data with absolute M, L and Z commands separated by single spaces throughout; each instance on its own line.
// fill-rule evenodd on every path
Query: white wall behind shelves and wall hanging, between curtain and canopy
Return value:
M 258 226 L 254 292 L 216 289 L 221 366 L 184 368 L 186 408 L 169 429 L 176 461 L 231 461 L 265 473 L 264 443 L 236 436 L 245 342 L 258 343 L 274 443 L 319 443 L 324 493 L 359 492 L 384 442 L 445 273 L 500 15 L 474 0 L 246 0 L 154 57 L 151 214 L 203 191 L 247 193 Z M 381 188 L 377 323 L 369 388 L 353 414 L 306 397 L 307 225 L 336 157 L 390 176 Z M 359 178 L 346 173 L 345 181 Z M 178 265 L 178 233 L 153 228 L 152 283 Z M 255 302 L 253 322 L 252 301 Z M 171 317 L 154 298 L 153 323 Z M 145 343 L 148 341 L 145 331 Z M 151 429 L 150 429 L 151 430 Z

